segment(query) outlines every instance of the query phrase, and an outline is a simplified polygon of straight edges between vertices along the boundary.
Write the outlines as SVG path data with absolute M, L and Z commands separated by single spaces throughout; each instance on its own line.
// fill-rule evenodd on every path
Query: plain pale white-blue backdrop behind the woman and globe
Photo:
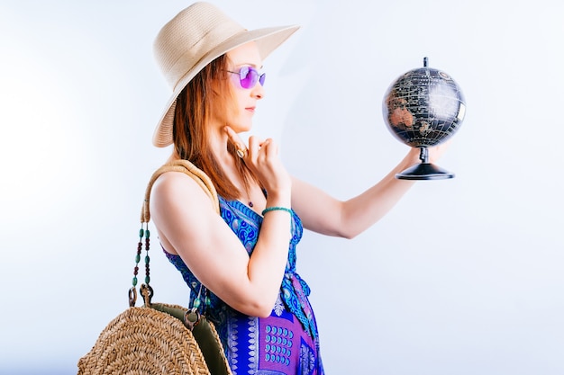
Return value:
M 183 1 L 0 3 L 0 373 L 72 374 L 127 308 L 150 144 L 170 94 L 152 57 Z M 564 373 L 563 3 L 217 1 L 247 28 L 303 27 L 265 62 L 253 133 L 348 199 L 407 147 L 383 94 L 423 66 L 468 112 L 439 165 L 352 240 L 306 233 L 328 374 Z M 186 287 L 153 237 L 156 300 Z

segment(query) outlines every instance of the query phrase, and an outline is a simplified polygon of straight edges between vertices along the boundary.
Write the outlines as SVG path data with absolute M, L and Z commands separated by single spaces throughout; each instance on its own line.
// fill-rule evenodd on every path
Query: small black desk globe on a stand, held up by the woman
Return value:
M 439 69 L 415 68 L 392 83 L 382 103 L 384 121 L 390 132 L 409 147 L 421 147 L 423 165 L 397 174 L 397 178 L 429 180 L 453 174 L 429 165 L 426 147 L 437 146 L 452 137 L 466 113 L 466 101 L 459 85 Z M 416 170 L 414 170 L 416 169 Z

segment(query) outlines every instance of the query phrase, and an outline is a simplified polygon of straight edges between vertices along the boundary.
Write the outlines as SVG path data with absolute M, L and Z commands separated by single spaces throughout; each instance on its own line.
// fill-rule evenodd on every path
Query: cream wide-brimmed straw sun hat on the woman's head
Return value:
M 202 2 L 178 13 L 159 31 L 153 46 L 160 70 L 172 87 L 172 96 L 153 134 L 153 145 L 172 144 L 177 96 L 207 64 L 252 40 L 264 59 L 298 28 L 290 25 L 249 31 L 214 5 Z

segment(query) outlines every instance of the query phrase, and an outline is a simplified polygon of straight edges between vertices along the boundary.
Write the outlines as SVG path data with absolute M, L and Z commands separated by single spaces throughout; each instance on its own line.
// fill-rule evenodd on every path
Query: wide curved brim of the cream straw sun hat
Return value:
M 263 60 L 268 55 L 277 49 L 284 41 L 286 41 L 294 32 L 299 29 L 297 25 L 269 27 L 264 29 L 257 29 L 252 31 L 241 31 L 232 36 L 223 43 L 217 45 L 214 49 L 208 51 L 199 62 L 186 71 L 186 75 L 177 82 L 173 88 L 173 93 L 168 99 L 165 106 L 165 111 L 162 113 L 157 128 L 153 133 L 152 143 L 156 147 L 167 147 L 172 144 L 172 125 L 174 119 L 174 112 L 177 103 L 178 95 L 184 90 L 188 82 L 196 76 L 207 64 L 212 62 L 215 58 L 219 58 L 224 53 L 232 49 L 236 49 L 243 44 L 250 41 L 256 41 L 259 48 L 260 58 Z

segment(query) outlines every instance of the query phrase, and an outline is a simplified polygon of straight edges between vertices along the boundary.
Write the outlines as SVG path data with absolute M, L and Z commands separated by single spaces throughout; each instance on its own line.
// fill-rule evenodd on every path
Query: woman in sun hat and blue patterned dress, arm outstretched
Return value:
M 217 215 L 186 174 L 162 174 L 151 218 L 195 306 L 214 321 L 234 374 L 323 374 L 309 288 L 296 273 L 303 228 L 355 237 L 374 224 L 412 183 L 394 175 L 418 161 L 409 155 L 380 183 L 337 201 L 291 177 L 273 139 L 249 131 L 264 96 L 262 61 L 296 26 L 247 31 L 211 4 L 196 3 L 168 22 L 155 41 L 173 87 L 155 130 L 170 159 L 191 161 L 212 179 Z

